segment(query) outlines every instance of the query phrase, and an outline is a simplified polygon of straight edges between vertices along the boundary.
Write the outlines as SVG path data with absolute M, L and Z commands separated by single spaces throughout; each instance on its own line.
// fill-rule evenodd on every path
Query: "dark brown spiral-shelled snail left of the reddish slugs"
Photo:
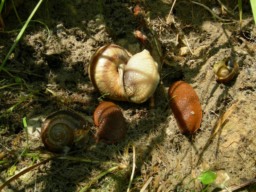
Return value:
M 49 115 L 41 127 L 41 139 L 46 148 L 61 153 L 82 139 L 90 128 L 83 117 L 61 110 Z

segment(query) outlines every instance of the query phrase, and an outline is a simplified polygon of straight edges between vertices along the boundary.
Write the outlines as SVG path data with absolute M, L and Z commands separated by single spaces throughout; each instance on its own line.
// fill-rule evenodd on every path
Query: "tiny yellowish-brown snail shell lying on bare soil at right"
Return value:
M 227 57 L 215 64 L 213 69 L 218 83 L 228 83 L 236 75 L 238 63 L 232 57 Z

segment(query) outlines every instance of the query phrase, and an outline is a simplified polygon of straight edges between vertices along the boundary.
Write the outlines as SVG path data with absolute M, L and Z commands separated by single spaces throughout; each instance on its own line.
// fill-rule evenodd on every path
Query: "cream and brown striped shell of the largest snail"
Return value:
M 117 45 L 106 45 L 97 50 L 89 63 L 89 77 L 95 89 L 103 94 L 109 93 L 106 97 L 110 99 L 127 100 L 122 76 L 128 60 L 127 52 Z

